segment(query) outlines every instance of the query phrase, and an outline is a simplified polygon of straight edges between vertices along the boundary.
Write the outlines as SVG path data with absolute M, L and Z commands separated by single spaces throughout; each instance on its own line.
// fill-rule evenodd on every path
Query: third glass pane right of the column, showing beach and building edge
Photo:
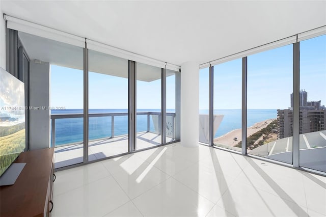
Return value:
M 292 164 L 293 135 L 292 47 L 249 56 L 247 76 L 248 153 L 288 164 Z

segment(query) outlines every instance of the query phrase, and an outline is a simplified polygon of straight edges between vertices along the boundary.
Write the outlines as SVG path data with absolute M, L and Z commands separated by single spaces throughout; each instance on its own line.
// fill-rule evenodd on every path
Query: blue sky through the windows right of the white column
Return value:
M 290 107 L 292 49 L 287 45 L 248 56 L 249 109 Z M 241 59 L 214 66 L 214 109 L 241 108 Z M 208 109 L 208 68 L 200 70 L 201 110 Z M 326 105 L 326 35 L 300 42 L 300 88 Z

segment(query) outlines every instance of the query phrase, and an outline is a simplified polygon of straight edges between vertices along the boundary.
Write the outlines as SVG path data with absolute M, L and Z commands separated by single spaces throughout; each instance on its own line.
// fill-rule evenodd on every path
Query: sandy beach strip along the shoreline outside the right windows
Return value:
M 275 119 L 268 119 L 265 121 L 261 121 L 258 123 L 255 123 L 253 126 L 247 128 L 247 134 L 249 135 L 254 134 L 255 132 L 258 132 L 262 128 L 266 127 L 270 122 L 274 121 Z M 235 141 L 234 138 L 237 138 Z M 214 143 L 224 144 L 227 146 L 235 146 L 242 140 L 241 138 L 241 129 L 235 129 L 231 132 L 228 132 L 227 134 L 222 135 L 221 137 L 215 138 Z

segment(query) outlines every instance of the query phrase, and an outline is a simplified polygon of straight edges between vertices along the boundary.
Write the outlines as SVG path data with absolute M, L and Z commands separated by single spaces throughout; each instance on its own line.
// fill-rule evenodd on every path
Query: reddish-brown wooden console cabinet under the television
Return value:
M 16 159 L 26 165 L 15 184 L 0 187 L 0 216 L 50 216 L 54 148 L 23 152 Z

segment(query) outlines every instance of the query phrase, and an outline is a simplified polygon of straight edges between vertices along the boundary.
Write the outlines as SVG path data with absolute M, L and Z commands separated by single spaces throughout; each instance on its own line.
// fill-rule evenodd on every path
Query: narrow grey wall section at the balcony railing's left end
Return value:
M 50 105 L 50 64 L 34 63 L 31 60 L 31 106 L 41 107 L 31 111 L 31 150 L 50 147 L 50 110 L 42 107 Z

